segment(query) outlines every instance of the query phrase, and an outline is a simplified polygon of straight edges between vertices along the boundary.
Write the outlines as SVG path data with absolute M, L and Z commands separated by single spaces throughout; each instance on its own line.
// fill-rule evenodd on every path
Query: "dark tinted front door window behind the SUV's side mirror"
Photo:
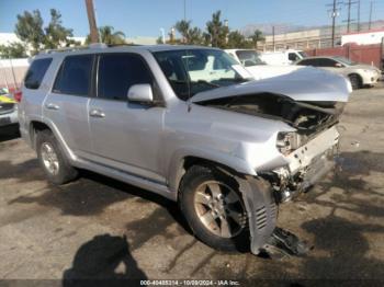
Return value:
M 126 100 L 133 84 L 154 80 L 144 59 L 134 54 L 110 54 L 100 56 L 98 96 L 110 100 Z

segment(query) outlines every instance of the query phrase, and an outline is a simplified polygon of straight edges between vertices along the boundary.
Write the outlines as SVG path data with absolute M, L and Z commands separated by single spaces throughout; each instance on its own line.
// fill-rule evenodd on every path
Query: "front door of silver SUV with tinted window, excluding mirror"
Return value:
M 89 111 L 92 160 L 163 183 L 159 151 L 165 107 L 127 101 L 133 84 L 155 88 L 146 61 L 132 53 L 103 54 L 99 56 L 97 79 L 98 96 L 91 100 Z

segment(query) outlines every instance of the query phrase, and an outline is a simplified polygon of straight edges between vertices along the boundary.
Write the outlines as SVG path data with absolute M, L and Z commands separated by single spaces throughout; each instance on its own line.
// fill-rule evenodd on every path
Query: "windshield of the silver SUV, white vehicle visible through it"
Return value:
M 179 99 L 248 81 L 250 77 L 229 55 L 216 49 L 156 51 L 154 56 Z

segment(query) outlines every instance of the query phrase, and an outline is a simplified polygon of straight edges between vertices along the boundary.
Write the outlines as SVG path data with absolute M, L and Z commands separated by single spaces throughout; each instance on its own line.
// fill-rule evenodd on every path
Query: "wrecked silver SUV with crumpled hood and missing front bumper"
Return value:
M 131 183 L 177 200 L 206 244 L 259 253 L 278 205 L 331 169 L 351 87 L 314 68 L 251 81 L 213 48 L 92 46 L 39 54 L 22 92 L 48 181 Z

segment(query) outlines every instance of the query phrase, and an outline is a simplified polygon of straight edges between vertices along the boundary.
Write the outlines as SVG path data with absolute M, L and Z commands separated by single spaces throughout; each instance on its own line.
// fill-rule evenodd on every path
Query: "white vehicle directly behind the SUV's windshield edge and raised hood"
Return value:
M 294 65 L 267 65 L 260 59 L 260 54 L 253 49 L 226 49 L 225 51 L 240 62 L 256 80 L 282 76 L 301 68 Z

